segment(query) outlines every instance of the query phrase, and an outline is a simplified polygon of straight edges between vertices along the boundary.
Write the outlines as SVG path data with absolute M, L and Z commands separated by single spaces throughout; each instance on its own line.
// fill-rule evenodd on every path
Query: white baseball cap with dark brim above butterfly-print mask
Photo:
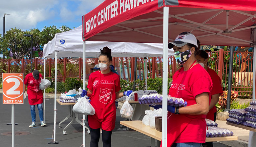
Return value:
M 176 37 L 176 39 L 173 42 L 168 43 L 168 48 L 171 49 L 173 46 L 181 47 L 186 45 L 187 43 L 194 44 L 196 47 L 197 45 L 197 39 L 194 34 L 190 32 L 182 32 L 180 35 Z

